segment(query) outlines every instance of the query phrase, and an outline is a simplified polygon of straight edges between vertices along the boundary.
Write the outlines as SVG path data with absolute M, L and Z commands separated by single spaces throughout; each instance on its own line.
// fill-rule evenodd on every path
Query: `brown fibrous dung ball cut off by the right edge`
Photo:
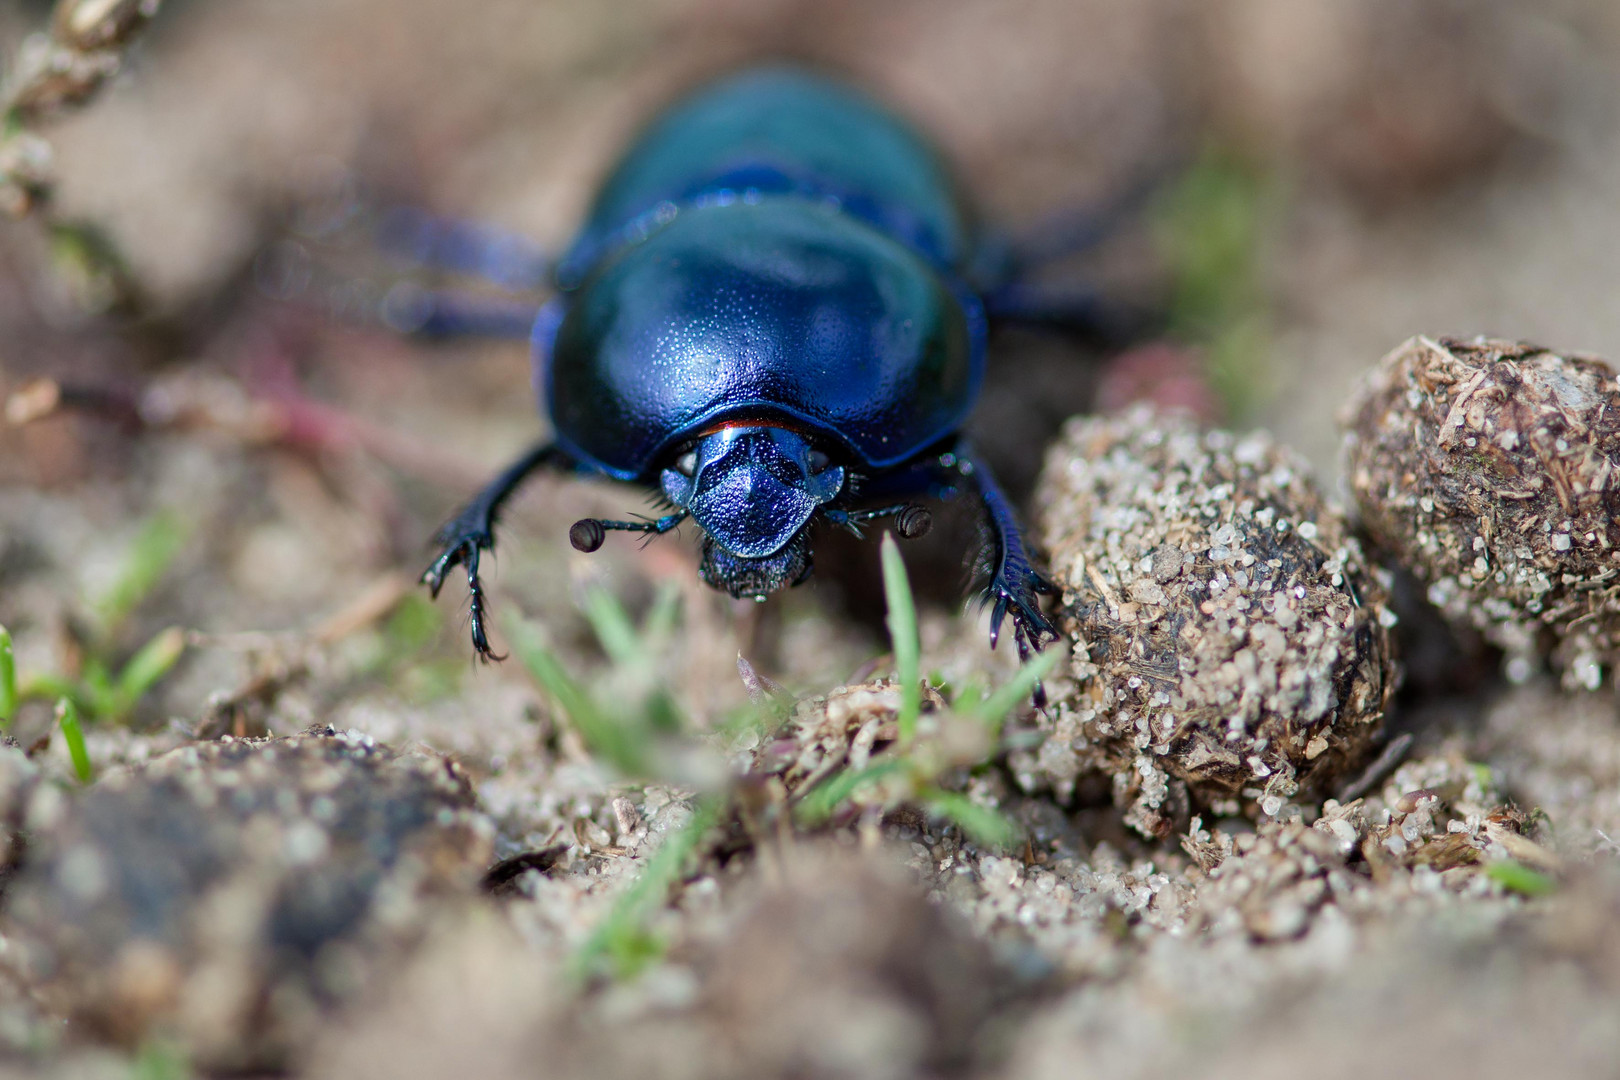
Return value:
M 1529 675 L 1596 688 L 1620 648 L 1620 385 L 1589 356 L 1414 337 L 1367 376 L 1345 473 L 1367 533 Z

